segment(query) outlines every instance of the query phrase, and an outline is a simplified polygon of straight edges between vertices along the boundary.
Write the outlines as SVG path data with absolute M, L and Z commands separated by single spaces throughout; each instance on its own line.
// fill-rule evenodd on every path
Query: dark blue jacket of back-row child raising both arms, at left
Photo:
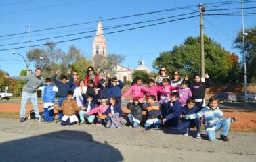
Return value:
M 66 97 L 68 91 L 70 90 L 71 85 L 74 82 L 74 78 L 72 75 L 70 75 L 70 79 L 68 82 L 63 84 L 61 81 L 57 80 L 57 74 L 54 75 L 52 78 L 52 81 L 58 86 L 58 92 L 59 92 L 59 97 Z

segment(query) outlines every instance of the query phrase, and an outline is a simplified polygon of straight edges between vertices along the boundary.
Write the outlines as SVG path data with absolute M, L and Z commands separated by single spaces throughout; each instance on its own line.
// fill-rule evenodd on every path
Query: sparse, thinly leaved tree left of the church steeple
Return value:
M 68 53 L 57 48 L 56 45 L 56 43 L 47 42 L 45 47 L 35 48 L 29 53 L 30 60 L 34 63 L 35 68 L 43 69 L 43 76 L 51 77 L 57 70 L 65 74 L 72 63 L 83 58 L 81 51 L 74 45 L 70 46 Z

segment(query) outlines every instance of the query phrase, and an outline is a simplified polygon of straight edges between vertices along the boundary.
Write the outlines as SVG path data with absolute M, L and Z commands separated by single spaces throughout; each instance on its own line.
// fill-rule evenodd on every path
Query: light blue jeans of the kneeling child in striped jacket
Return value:
M 227 136 L 228 130 L 230 129 L 230 122 L 231 118 L 221 119 L 217 122 L 215 129 L 207 128 L 206 132 L 209 140 L 216 140 L 215 132 L 217 132 L 217 130 L 220 130 L 221 128 L 223 128 L 221 135 Z

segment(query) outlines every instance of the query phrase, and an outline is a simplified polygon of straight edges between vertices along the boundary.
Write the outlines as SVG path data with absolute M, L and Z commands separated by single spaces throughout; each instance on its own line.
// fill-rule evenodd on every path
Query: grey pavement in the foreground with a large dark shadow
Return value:
M 175 130 L 60 126 L 0 118 L 1 161 L 255 161 L 256 134 L 230 142 L 197 140 Z M 219 133 L 218 136 L 219 137 Z M 203 136 L 206 138 L 206 136 Z

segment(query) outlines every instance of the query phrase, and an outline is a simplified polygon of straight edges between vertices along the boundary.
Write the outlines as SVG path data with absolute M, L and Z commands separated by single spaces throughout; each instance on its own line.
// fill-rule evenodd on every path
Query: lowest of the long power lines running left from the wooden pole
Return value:
M 85 39 L 85 38 L 91 38 L 91 37 L 94 37 L 94 36 L 114 34 L 114 33 L 118 33 L 118 32 L 125 32 L 125 31 L 129 31 L 129 30 L 135 30 L 135 29 L 139 29 L 139 28 L 146 28 L 146 27 L 150 27 L 150 26 L 156 26 L 156 25 L 159 25 L 159 24 L 166 24 L 166 23 L 169 23 L 169 22 L 175 22 L 175 21 L 179 21 L 179 20 L 186 20 L 186 19 L 189 19 L 189 18 L 195 18 L 197 16 L 198 15 L 196 15 L 196 16 L 188 16 L 188 17 L 185 17 L 185 18 L 169 20 L 169 21 L 166 21 L 166 22 L 159 22 L 159 23 L 149 24 L 149 25 L 145 25 L 145 26 L 139 26 L 139 27 L 135 27 L 135 28 L 118 30 L 118 31 L 114 31 L 114 32 L 108 32 L 106 34 L 99 34 L 99 35 L 93 35 L 93 36 L 84 36 L 84 37 L 81 37 L 81 38 L 73 38 L 73 39 L 68 39 L 68 40 L 64 40 L 64 41 L 58 41 L 58 42 L 54 42 L 54 43 L 65 43 L 65 42 L 69 42 L 69 41 L 77 41 L 77 40 L 81 40 L 81 39 Z M 30 45 L 30 47 L 39 47 L 39 46 L 43 46 L 43 45 L 45 45 L 45 43 L 39 44 L 39 45 Z M 14 47 L 14 48 L 8 48 L 8 49 L 0 49 L 0 51 L 7 51 L 7 50 L 10 50 L 10 49 L 24 49 L 24 48 L 27 48 L 27 47 L 28 46 Z

